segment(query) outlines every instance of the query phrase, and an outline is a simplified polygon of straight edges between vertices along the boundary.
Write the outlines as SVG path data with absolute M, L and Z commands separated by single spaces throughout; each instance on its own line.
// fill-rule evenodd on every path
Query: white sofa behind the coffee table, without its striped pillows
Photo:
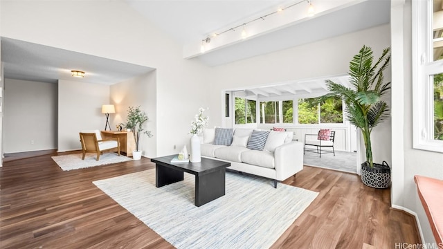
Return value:
M 291 131 L 268 131 L 264 149 L 257 150 L 248 149 L 253 129 L 233 130 L 229 146 L 214 144 L 215 129 L 204 130 L 201 156 L 227 161 L 228 169 L 269 178 L 274 187 L 303 169 L 303 144 L 292 140 Z

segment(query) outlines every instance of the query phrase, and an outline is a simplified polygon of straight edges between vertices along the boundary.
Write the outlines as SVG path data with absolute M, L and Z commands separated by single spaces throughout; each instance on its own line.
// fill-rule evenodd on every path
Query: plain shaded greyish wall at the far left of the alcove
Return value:
M 5 80 L 4 152 L 57 148 L 57 84 Z

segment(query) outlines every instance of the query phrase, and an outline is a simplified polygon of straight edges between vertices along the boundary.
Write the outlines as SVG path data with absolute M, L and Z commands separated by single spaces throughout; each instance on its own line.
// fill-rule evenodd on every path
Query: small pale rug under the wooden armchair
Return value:
M 59 165 L 59 167 L 61 167 L 64 171 L 108 165 L 111 163 L 121 163 L 132 160 L 132 158 L 128 158 L 127 156 L 118 156 L 118 154 L 114 153 L 103 153 L 100 155 L 99 160 L 96 160 L 96 156 L 97 154 L 88 153 L 86 156 L 84 156 L 84 160 L 82 160 L 82 154 L 52 156 L 51 158 L 53 158 L 55 163 L 57 163 L 57 165 Z

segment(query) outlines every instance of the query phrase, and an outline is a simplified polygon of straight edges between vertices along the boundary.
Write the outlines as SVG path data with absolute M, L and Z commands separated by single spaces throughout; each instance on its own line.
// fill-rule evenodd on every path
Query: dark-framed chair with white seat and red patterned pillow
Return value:
M 315 136 L 315 138 L 312 138 L 312 136 Z M 329 129 L 320 129 L 318 134 L 305 134 L 305 153 L 303 154 L 308 151 L 320 154 L 320 158 L 322 153 L 334 153 L 335 156 L 334 139 L 335 131 L 329 131 Z M 306 149 L 306 146 L 314 146 L 316 149 Z M 332 151 L 325 150 L 323 147 L 332 147 Z

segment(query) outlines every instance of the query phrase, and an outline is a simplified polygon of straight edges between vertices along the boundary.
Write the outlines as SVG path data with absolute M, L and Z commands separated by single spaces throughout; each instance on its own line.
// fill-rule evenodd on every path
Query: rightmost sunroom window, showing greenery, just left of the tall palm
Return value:
M 343 102 L 340 98 L 306 98 L 298 100 L 299 124 L 343 123 Z

